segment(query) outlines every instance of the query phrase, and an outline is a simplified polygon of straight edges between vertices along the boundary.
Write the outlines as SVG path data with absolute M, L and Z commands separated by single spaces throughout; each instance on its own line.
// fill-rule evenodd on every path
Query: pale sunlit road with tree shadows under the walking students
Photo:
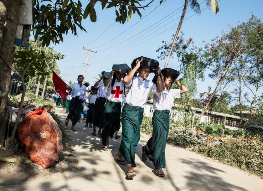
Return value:
M 64 110 L 56 111 L 64 121 Z M 149 139 L 145 134 L 141 134 L 136 152 L 137 176 L 127 180 L 126 167 L 114 161 L 121 140 L 110 140 L 111 146 L 105 152 L 101 150 L 100 137 L 91 135 L 92 129 L 85 127 L 84 120 L 77 123 L 75 132 L 70 131 L 70 126 L 71 122 L 67 129 L 78 158 L 78 170 L 38 176 L 27 180 L 23 190 L 263 190 L 263 179 L 257 176 L 170 144 L 166 146 L 166 177 L 157 177 L 152 173 L 152 163 L 141 159 L 142 145 Z M 18 185 L 12 188 L 19 190 Z

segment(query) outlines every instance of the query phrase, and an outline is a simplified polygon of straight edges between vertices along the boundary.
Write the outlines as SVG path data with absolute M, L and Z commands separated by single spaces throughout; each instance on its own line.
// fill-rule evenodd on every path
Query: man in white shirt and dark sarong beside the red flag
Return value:
M 82 102 L 85 100 L 86 86 L 82 84 L 84 77 L 83 75 L 78 76 L 78 83 L 69 87 L 69 95 L 71 95 L 69 114 L 65 121 L 65 126 L 68 126 L 69 121 L 72 121 L 71 130 L 75 131 L 74 126 L 80 118 L 80 112 L 83 111 Z

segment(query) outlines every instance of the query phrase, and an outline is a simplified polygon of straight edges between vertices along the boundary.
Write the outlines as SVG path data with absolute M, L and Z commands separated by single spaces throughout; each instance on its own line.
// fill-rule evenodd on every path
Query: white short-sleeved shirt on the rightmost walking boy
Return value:
M 153 95 L 153 109 L 155 110 L 171 110 L 174 98 L 181 97 L 180 89 L 163 90 Z

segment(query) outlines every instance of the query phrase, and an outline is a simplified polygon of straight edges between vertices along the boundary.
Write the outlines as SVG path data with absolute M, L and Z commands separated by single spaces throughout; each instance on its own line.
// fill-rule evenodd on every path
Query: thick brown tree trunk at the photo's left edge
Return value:
M 11 69 L 5 62 L 9 65 L 13 62 L 19 2 L 20 0 L 0 0 L 0 145 L 4 145 L 6 136 L 7 96 L 11 82 Z

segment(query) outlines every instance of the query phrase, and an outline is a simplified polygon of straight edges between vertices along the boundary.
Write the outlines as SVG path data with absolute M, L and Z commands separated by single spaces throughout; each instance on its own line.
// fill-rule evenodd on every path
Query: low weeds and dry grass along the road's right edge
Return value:
M 230 137 L 216 144 L 209 142 L 210 139 L 198 140 L 189 134 L 189 128 L 178 127 L 176 124 L 170 123 L 168 142 L 263 177 L 263 143 L 256 138 Z M 151 118 L 143 118 L 141 131 L 152 135 Z

